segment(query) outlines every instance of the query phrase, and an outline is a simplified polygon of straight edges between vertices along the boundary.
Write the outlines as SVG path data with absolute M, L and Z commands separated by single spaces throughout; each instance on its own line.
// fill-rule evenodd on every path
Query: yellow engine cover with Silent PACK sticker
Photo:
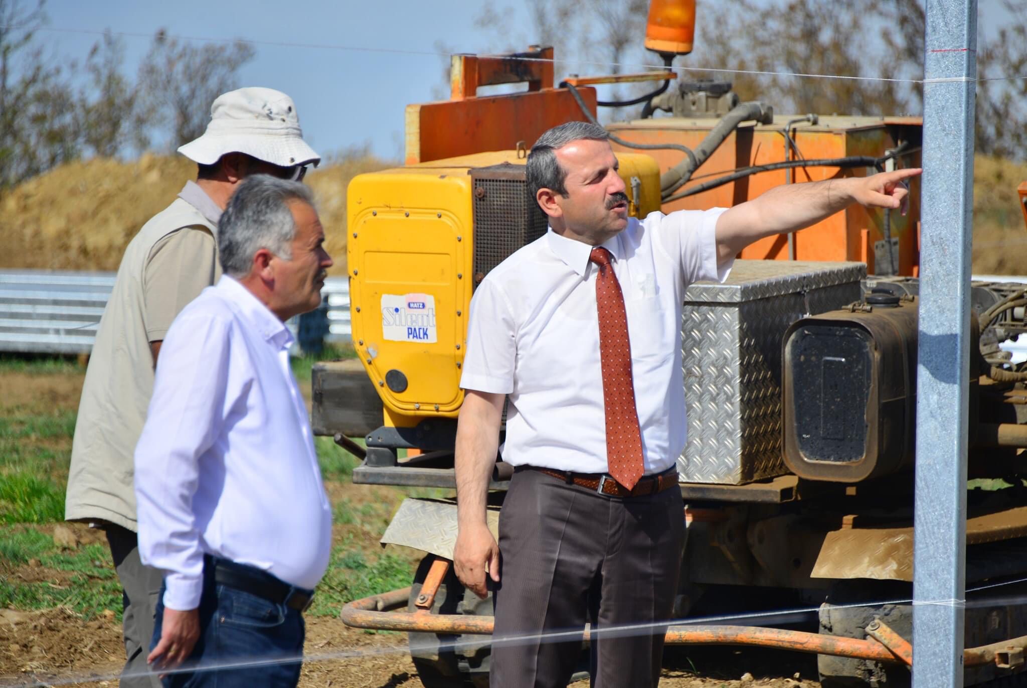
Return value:
M 617 153 L 633 215 L 659 210 L 659 170 Z M 463 402 L 474 218 L 468 170 L 523 165 L 515 150 L 433 160 L 354 177 L 347 192 L 353 345 L 385 407 L 384 425 L 457 415 Z M 637 177 L 639 198 L 632 178 Z

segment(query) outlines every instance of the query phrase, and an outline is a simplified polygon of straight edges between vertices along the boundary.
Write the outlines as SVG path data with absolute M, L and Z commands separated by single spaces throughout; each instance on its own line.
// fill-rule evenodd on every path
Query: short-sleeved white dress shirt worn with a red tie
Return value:
M 685 447 L 681 311 L 686 286 L 723 282 L 715 227 L 725 209 L 651 213 L 603 246 L 627 312 L 645 473 Z M 592 246 L 549 231 L 486 276 L 470 302 L 460 386 L 506 394 L 503 461 L 605 473 L 606 414 Z

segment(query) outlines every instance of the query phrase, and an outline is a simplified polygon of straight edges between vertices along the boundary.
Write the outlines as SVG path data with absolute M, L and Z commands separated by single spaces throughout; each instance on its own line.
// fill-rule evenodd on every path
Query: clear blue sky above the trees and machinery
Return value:
M 497 4 L 512 10 L 507 42 L 526 47 L 533 36 L 524 3 Z M 995 4 L 997 0 L 981 0 L 983 7 Z M 82 61 L 99 36 L 73 32 L 142 34 L 124 36 L 125 72 L 131 76 L 161 27 L 185 37 L 370 48 L 257 44 L 257 57 L 241 70 L 241 85 L 270 86 L 292 96 L 305 138 L 322 155 L 369 143 L 376 154 L 398 158 L 404 107 L 433 100 L 432 90 L 441 93 L 444 59 L 434 55 L 439 46 L 458 52 L 499 47 L 494 34 L 474 27 L 481 6 L 469 0 L 49 0 L 51 31 L 40 38 L 59 53 Z M 998 19 L 992 14 L 989 19 Z M 698 21 L 701 31 L 701 15 Z M 712 66 L 698 55 L 677 64 Z M 561 66 L 557 71 L 559 78 Z

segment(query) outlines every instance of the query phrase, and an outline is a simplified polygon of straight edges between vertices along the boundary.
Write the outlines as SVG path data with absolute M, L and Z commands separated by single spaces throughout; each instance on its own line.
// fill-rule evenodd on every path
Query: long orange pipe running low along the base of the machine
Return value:
M 387 612 L 406 605 L 410 588 L 393 590 L 379 595 L 354 600 L 342 608 L 343 623 L 353 628 L 376 628 L 447 635 L 492 635 L 493 617 L 464 616 L 462 614 L 425 614 L 424 612 Z M 589 629 L 583 629 L 584 640 Z M 739 645 L 792 650 L 810 654 L 869 659 L 872 661 L 908 663 L 906 655 L 912 648 L 901 637 L 895 641 L 898 655 L 876 640 L 860 640 L 810 633 L 801 630 L 763 628 L 759 626 L 671 626 L 667 629 L 668 645 Z M 900 642 L 902 641 L 902 642 Z M 1002 663 L 1010 661 L 1011 652 L 1027 649 L 1027 636 L 1001 643 L 967 648 L 963 652 L 965 666 Z

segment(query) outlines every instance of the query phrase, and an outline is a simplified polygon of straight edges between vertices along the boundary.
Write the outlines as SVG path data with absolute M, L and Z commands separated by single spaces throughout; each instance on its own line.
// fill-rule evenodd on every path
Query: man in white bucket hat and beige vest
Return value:
M 68 520 L 107 532 L 123 588 L 128 688 L 160 685 L 147 676 L 146 656 L 161 573 L 140 562 L 132 485 L 160 343 L 179 312 L 221 277 L 218 220 L 239 182 L 255 174 L 300 181 L 320 161 L 293 100 L 261 87 L 219 96 L 206 131 L 179 152 L 197 164 L 196 181 L 143 225 L 121 258 L 82 387 L 65 506 Z

